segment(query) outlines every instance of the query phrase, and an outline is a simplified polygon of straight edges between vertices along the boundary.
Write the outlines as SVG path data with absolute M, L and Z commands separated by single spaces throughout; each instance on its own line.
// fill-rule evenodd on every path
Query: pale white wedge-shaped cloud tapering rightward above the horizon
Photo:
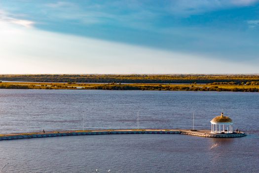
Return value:
M 0 27 L 0 38 L 0 74 L 258 72 L 258 67 L 245 63 L 14 28 L 9 23 Z

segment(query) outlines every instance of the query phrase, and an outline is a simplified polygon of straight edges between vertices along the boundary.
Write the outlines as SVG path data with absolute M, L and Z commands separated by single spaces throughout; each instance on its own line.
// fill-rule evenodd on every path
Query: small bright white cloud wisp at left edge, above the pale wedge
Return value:
M 35 24 L 35 22 L 30 20 L 22 20 L 9 17 L 8 14 L 3 10 L 0 10 L 0 23 L 15 24 L 26 28 L 32 28 Z

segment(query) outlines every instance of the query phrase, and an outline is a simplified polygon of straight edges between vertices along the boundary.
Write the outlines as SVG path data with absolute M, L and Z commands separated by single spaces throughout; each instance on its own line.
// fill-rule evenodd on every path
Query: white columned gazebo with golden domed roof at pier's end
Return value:
M 223 115 L 211 120 L 211 133 L 233 133 L 233 121 Z

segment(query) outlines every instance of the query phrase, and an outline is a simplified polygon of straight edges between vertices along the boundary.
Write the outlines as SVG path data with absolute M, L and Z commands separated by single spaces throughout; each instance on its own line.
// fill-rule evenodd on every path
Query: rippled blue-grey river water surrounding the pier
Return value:
M 195 127 L 221 111 L 248 136 L 66 136 L 0 141 L 2 173 L 259 172 L 259 93 L 0 89 L 0 133 Z M 29 126 L 28 126 L 29 125 Z

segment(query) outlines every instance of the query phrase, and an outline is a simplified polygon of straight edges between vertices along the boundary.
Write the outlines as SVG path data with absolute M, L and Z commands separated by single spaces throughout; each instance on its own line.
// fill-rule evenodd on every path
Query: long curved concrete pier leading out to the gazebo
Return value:
M 234 132 L 230 134 L 215 134 L 210 130 L 176 130 L 176 129 L 125 129 L 125 130 L 73 130 L 73 131 L 46 131 L 30 133 L 11 133 L 0 134 L 0 140 L 38 138 L 38 137 L 56 137 L 56 136 L 74 136 L 74 135 L 99 135 L 99 134 L 187 134 L 201 137 L 242 137 L 246 136 L 244 132 Z

